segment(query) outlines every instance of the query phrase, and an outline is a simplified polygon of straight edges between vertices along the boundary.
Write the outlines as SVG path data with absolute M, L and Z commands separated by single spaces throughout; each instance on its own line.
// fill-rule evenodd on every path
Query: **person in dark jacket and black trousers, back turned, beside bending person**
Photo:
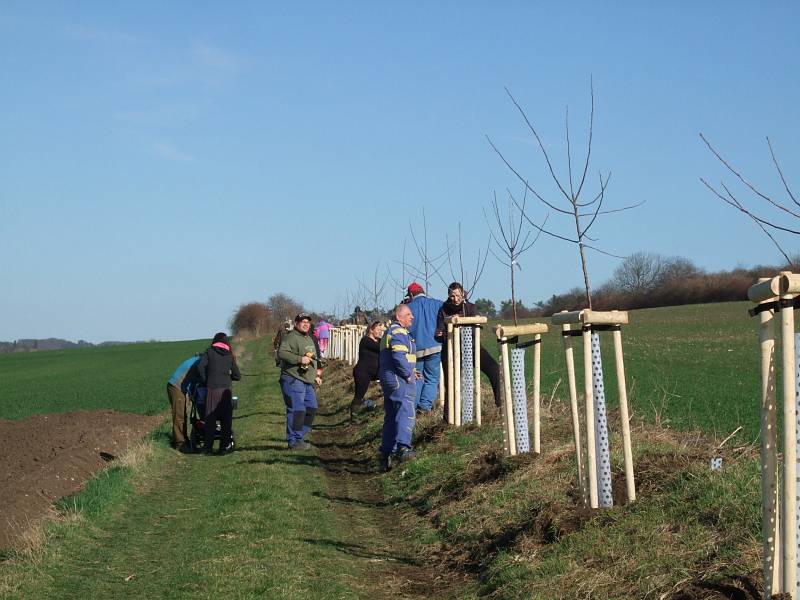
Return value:
M 197 370 L 201 381 L 208 388 L 206 414 L 203 421 L 205 443 L 203 451 L 211 454 L 217 421 L 221 423 L 218 454 L 233 451 L 231 429 L 233 425 L 232 381 L 242 378 L 239 366 L 231 352 L 228 336 L 220 332 L 214 336 L 211 346 L 200 357 Z

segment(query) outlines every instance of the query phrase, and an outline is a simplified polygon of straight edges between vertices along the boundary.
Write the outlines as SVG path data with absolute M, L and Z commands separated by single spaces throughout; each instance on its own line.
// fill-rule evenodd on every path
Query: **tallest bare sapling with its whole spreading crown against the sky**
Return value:
M 571 147 L 571 140 L 570 140 L 570 133 L 569 133 L 569 108 L 566 110 L 565 116 L 565 138 L 567 143 L 567 180 L 566 183 L 562 181 L 556 175 L 555 168 L 553 167 L 553 161 L 550 158 L 550 154 L 547 152 L 545 148 L 544 142 L 539 135 L 539 132 L 534 127 L 531 120 L 528 118 L 528 115 L 525 113 L 525 110 L 522 106 L 517 102 L 516 98 L 511 94 L 511 92 L 506 88 L 506 93 L 508 97 L 511 99 L 511 102 L 514 103 L 514 106 L 517 107 L 520 115 L 525 121 L 530 132 L 533 134 L 533 137 L 536 139 L 536 143 L 539 146 L 539 150 L 541 151 L 542 156 L 544 157 L 545 163 L 547 165 L 547 169 L 550 172 L 550 177 L 552 178 L 553 182 L 556 185 L 558 190 L 558 195 L 562 196 L 562 201 L 566 202 L 566 204 L 562 204 L 566 208 L 562 208 L 558 206 L 555 201 L 549 200 L 544 197 L 543 193 L 539 192 L 536 188 L 534 188 L 529 183 L 529 179 L 523 177 L 522 174 L 518 169 L 516 169 L 503 155 L 503 153 L 497 148 L 497 146 L 492 142 L 489 136 L 486 136 L 486 139 L 489 141 L 492 149 L 497 153 L 500 159 L 506 164 L 506 166 L 511 170 L 511 172 L 522 182 L 525 188 L 531 192 L 541 203 L 547 206 L 550 210 L 556 212 L 557 214 L 564 215 L 567 217 L 575 228 L 574 237 L 569 235 L 561 235 L 558 233 L 554 233 L 553 231 L 549 231 L 540 227 L 536 223 L 534 223 L 530 218 L 528 218 L 527 214 L 522 211 L 523 217 L 536 229 L 539 229 L 540 232 L 545 233 L 551 237 L 571 242 L 578 246 L 578 253 L 580 255 L 581 260 L 581 269 L 583 270 L 583 282 L 584 282 L 584 289 L 586 291 L 586 302 L 588 307 L 592 308 L 592 289 L 589 283 L 589 269 L 586 262 L 586 250 L 594 250 L 596 252 L 600 252 L 602 254 L 607 254 L 609 256 L 615 256 L 616 258 L 621 258 L 605 250 L 601 250 L 593 243 L 597 240 L 589 237 L 588 233 L 591 230 L 592 226 L 597 221 L 597 217 L 600 215 L 605 215 L 614 212 L 620 212 L 623 210 L 629 210 L 631 208 L 635 208 L 643 204 L 639 202 L 637 204 L 631 206 L 625 206 L 622 208 L 614 209 L 614 210 L 602 210 L 603 202 L 605 200 L 605 191 L 606 187 L 608 186 L 608 182 L 611 178 L 611 172 L 605 177 L 602 173 L 598 173 L 599 185 L 598 191 L 588 200 L 583 200 L 581 194 L 584 192 L 584 185 L 586 184 L 587 175 L 589 173 L 589 164 L 591 161 L 592 156 L 592 142 L 593 142 L 593 133 L 594 133 L 594 85 L 590 84 L 590 97 L 591 97 L 591 109 L 589 112 L 589 126 L 588 126 L 588 141 L 586 144 L 586 155 L 583 159 L 583 166 L 580 171 L 579 177 L 574 177 L 572 172 L 572 147 Z M 517 204 L 519 208 L 519 204 Z M 587 222 L 588 221 L 588 222 Z M 587 242 L 592 242 L 587 243 Z

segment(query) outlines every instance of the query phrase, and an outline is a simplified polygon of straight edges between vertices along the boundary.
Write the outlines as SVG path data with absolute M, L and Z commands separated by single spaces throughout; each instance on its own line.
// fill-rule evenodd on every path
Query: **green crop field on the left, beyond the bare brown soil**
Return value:
M 208 340 L 0 354 L 0 415 L 97 410 L 154 415 L 168 410 L 165 387 L 178 365 Z

